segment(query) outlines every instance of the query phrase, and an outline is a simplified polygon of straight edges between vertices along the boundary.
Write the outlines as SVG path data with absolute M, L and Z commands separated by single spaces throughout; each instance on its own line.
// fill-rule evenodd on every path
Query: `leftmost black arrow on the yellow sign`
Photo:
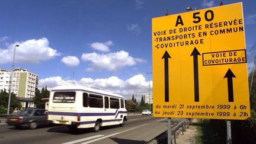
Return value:
M 166 50 L 162 57 L 162 59 L 165 60 L 165 102 L 169 102 L 169 58 L 171 58 L 171 56 Z

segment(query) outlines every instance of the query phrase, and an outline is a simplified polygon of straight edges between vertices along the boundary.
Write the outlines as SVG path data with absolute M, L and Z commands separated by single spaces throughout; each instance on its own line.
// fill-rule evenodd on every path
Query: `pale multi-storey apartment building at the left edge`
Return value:
M 0 69 L 0 90 L 6 89 L 9 92 L 11 84 L 11 70 Z M 17 95 L 23 108 L 33 108 L 33 97 L 38 88 L 39 76 L 29 72 L 27 69 L 15 68 L 12 77 L 11 92 Z

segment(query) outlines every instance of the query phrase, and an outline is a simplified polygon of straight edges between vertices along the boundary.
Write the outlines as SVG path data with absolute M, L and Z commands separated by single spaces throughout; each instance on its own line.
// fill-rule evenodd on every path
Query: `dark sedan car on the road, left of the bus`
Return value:
M 39 125 L 47 124 L 47 113 L 42 109 L 23 110 L 18 114 L 8 116 L 7 123 L 17 128 L 28 126 L 30 129 L 36 129 Z

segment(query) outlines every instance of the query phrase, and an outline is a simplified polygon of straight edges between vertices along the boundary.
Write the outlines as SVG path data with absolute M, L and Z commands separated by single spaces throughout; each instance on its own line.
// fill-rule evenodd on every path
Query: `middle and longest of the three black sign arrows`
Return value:
M 198 73 L 198 59 L 197 56 L 200 55 L 199 51 L 194 48 L 190 56 L 193 56 L 194 62 L 194 101 L 199 101 L 199 73 Z

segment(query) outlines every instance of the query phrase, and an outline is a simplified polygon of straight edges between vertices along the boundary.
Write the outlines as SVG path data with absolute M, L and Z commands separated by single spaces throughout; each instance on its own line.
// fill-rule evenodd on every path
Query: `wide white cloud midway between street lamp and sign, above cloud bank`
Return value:
M 107 71 L 117 71 L 124 66 L 135 65 L 136 62 L 142 62 L 142 59 L 136 59 L 129 56 L 128 52 L 121 50 L 116 53 L 98 54 L 98 53 L 83 53 L 82 60 L 91 62 L 91 67 L 87 71 L 95 71 L 105 69 Z

